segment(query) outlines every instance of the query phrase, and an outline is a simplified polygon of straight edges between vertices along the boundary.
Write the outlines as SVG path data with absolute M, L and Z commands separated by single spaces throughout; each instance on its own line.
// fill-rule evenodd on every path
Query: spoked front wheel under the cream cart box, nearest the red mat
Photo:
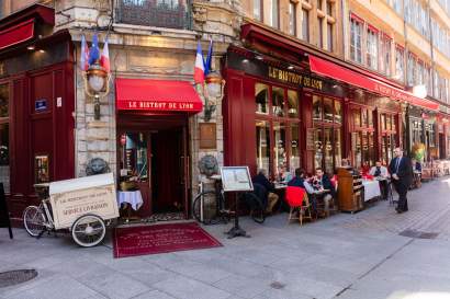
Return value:
M 71 226 L 74 241 L 83 248 L 91 248 L 104 239 L 106 228 L 104 221 L 97 215 L 87 214 L 80 216 Z

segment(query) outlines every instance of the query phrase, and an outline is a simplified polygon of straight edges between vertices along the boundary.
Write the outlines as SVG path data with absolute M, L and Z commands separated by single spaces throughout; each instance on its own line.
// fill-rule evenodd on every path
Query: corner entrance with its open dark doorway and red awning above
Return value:
M 138 216 L 189 216 L 189 117 L 203 104 L 187 81 L 115 79 L 119 186 L 139 192 Z

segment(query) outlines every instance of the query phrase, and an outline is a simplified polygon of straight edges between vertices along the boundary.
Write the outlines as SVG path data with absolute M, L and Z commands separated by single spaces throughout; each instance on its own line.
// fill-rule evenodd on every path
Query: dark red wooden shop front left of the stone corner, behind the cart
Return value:
M 53 27 L 40 4 L 0 21 L 0 182 L 14 221 L 38 204 L 34 184 L 75 172 L 72 47 Z

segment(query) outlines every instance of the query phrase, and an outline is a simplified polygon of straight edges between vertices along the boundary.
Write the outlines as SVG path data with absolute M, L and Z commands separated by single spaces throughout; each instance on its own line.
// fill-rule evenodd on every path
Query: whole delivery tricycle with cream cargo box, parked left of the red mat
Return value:
M 103 241 L 106 225 L 119 217 L 112 173 L 36 184 L 35 187 L 41 204 L 29 206 L 23 212 L 23 225 L 32 237 L 69 229 L 77 244 L 90 248 Z

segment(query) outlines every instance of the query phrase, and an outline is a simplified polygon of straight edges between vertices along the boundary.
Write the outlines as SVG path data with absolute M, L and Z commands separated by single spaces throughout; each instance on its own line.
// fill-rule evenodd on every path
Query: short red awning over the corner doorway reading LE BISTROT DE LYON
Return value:
M 115 79 L 117 110 L 198 113 L 202 100 L 190 82 L 150 79 Z

